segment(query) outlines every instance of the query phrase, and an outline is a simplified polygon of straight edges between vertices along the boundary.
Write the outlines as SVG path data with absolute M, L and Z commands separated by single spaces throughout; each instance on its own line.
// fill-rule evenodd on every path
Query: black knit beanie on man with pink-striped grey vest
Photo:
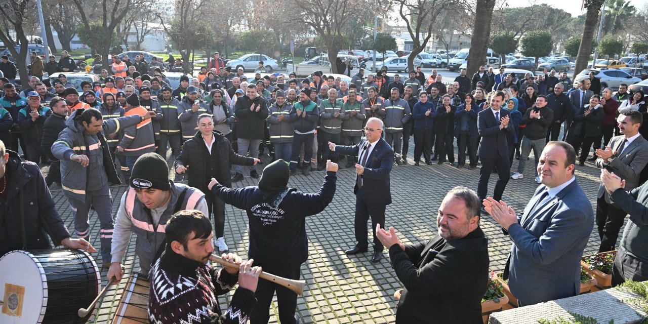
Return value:
M 157 153 L 146 153 L 140 156 L 130 176 L 130 186 L 133 188 L 152 188 L 169 191 L 168 165 Z

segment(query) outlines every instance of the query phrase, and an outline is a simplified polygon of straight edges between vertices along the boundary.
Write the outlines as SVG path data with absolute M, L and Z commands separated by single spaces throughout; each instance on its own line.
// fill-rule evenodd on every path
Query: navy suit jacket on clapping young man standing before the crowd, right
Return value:
M 500 108 L 500 119 L 509 115 L 508 110 Z M 477 113 L 477 130 L 481 136 L 480 146 L 477 148 L 479 157 L 494 158 L 499 154 L 500 157 L 509 158 L 507 137 L 509 133 L 515 132 L 513 123 L 509 121 L 509 126 L 500 130 L 491 108 L 485 108 Z

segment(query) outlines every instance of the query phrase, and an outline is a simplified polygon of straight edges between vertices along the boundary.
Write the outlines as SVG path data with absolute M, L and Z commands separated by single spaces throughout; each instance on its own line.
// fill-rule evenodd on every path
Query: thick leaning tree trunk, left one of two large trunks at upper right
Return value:
M 470 39 L 470 52 L 466 75 L 474 75 L 484 64 L 488 50 L 489 36 L 491 35 L 492 10 L 495 8 L 495 0 L 477 0 L 475 22 L 472 27 L 472 38 Z M 472 87 L 472 84 L 471 84 Z

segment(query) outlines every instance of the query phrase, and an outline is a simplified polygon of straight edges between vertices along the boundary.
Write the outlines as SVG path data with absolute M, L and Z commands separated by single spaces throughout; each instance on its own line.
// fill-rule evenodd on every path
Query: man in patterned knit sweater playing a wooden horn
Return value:
M 252 259 L 242 262 L 233 253 L 222 255 L 232 266 L 221 270 L 207 266 L 214 251 L 211 227 L 205 213 L 196 210 L 179 211 L 168 220 L 166 249 L 151 272 L 151 323 L 248 322 L 248 314 L 257 302 L 254 292 L 261 268 L 253 267 Z M 221 314 L 217 296 L 234 288 L 237 281 L 238 289 L 227 312 Z

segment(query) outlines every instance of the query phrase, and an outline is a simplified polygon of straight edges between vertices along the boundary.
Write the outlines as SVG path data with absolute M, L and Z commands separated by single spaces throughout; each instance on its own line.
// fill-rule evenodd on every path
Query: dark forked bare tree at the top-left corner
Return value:
M 3 5 L 0 5 L 0 24 L 3 25 L 0 29 L 0 40 L 5 43 L 9 52 L 16 58 L 16 64 L 20 79 L 25 82 L 27 76 L 27 52 L 29 51 L 27 44 L 27 35 L 23 27 L 29 16 L 34 16 L 35 2 L 29 0 L 5 0 Z M 26 15 L 27 14 L 27 15 Z M 9 30 L 13 29 L 16 32 L 16 40 L 9 34 Z M 20 50 L 17 51 L 17 45 L 22 45 Z

